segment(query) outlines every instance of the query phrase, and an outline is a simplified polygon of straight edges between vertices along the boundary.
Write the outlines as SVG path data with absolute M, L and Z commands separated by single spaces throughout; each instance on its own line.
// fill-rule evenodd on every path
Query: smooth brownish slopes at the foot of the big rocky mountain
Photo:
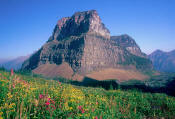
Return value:
M 119 81 L 126 81 L 130 79 L 137 79 L 137 80 L 149 79 L 149 76 L 144 75 L 142 72 L 139 72 L 137 70 L 129 70 L 129 69 L 126 70 L 122 68 L 121 69 L 106 68 L 100 71 L 91 72 L 86 76 L 81 76 L 78 74 L 74 74 L 72 68 L 67 63 L 63 63 L 59 66 L 55 64 L 44 64 L 34 69 L 33 72 L 36 74 L 42 74 L 43 76 L 46 77 L 62 76 L 67 79 L 73 79 L 78 81 L 82 81 L 84 77 L 89 77 L 99 81 L 109 79 L 117 79 Z

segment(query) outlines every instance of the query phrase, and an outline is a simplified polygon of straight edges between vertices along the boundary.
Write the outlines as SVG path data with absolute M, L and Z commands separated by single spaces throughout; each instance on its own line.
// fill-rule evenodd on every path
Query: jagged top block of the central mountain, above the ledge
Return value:
M 110 39 L 110 32 L 101 22 L 96 10 L 76 12 L 72 17 L 64 17 L 57 22 L 50 40 L 62 40 L 83 33 L 96 34 Z

